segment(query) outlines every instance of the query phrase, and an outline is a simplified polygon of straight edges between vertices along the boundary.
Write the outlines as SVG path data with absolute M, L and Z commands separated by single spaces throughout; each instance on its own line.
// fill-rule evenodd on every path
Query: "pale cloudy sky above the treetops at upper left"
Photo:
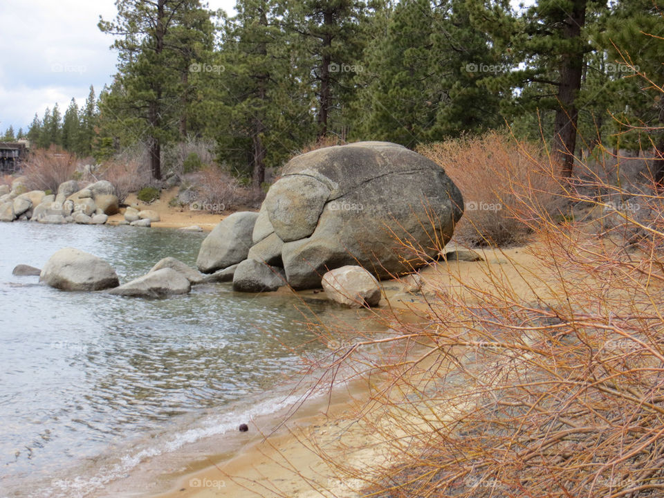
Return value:
M 208 0 L 232 12 L 235 0 Z M 114 0 L 1 0 L 0 136 L 11 124 L 27 131 L 35 116 L 71 98 L 82 104 L 92 84 L 111 82 L 117 53 L 97 28 L 99 16 L 116 15 Z

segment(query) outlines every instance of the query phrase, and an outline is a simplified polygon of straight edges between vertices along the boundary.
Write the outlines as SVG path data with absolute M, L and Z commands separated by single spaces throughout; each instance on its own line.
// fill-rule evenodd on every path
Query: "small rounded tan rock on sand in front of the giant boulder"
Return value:
M 360 266 L 330 270 L 323 275 L 321 283 L 329 299 L 351 308 L 376 306 L 380 302 L 378 280 Z

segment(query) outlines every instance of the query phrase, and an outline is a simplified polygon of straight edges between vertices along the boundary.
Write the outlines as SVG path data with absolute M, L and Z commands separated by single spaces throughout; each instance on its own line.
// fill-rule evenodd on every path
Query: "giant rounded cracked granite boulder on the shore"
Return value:
M 249 257 L 283 266 L 295 289 L 319 287 L 324 273 L 345 265 L 402 275 L 437 257 L 462 214 L 456 185 L 420 154 L 387 142 L 326 147 L 284 166 Z

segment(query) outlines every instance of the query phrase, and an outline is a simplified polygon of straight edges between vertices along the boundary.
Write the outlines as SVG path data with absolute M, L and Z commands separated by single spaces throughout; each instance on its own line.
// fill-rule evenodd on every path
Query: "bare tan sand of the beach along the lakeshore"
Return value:
M 168 206 L 174 191 L 167 192 L 158 203 L 141 206 L 129 198 L 130 205 L 160 212 L 162 221 L 156 227 L 183 228 L 199 225 L 210 230 L 223 219 L 223 214 L 205 214 Z M 116 216 L 118 217 L 118 216 Z M 118 219 L 120 219 L 118 217 Z M 463 248 L 459 248 L 463 250 Z M 392 308 L 409 315 L 427 308 L 436 291 L 463 293 L 459 282 L 487 291 L 497 280 L 508 282 L 522 299 L 533 295 L 535 257 L 528 248 L 475 250 L 479 261 L 440 261 L 420 271 L 424 279 L 422 293 L 406 293 L 398 280 L 382 282 L 385 298 L 381 308 Z M 544 289 L 537 289 L 538 292 Z M 278 293 L 290 293 L 282 288 Z M 317 291 L 301 291 L 308 299 L 324 299 Z M 369 313 L 369 312 L 367 312 Z M 362 462 L 376 462 L 385 441 L 358 423 L 358 409 L 370 399 L 363 380 L 350 388 L 338 387 L 330 398 L 308 400 L 282 426 L 285 412 L 249 423 L 248 432 L 214 436 L 201 441 L 196 448 L 178 450 L 167 459 L 145 461 L 127 479 L 111 483 L 104 497 L 149 496 L 175 497 L 357 497 L 362 484 L 356 479 L 336 474 L 320 455 L 343 461 L 355 468 Z M 319 450 L 314 451 L 317 447 Z M 323 450 L 323 451 L 320 451 Z

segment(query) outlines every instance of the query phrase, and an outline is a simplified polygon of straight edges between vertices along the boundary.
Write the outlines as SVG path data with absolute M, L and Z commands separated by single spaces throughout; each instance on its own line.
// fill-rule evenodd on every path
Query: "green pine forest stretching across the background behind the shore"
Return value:
M 25 135 L 38 147 L 104 160 L 142 142 L 160 178 L 163 147 L 212 139 L 219 164 L 257 184 L 322 138 L 414 148 L 508 124 L 544 138 L 566 175 L 598 143 L 664 151 L 654 0 L 238 0 L 233 17 L 199 0 L 116 7 L 99 23 L 116 35 L 113 82 L 64 116 L 57 104 L 35 116 Z

